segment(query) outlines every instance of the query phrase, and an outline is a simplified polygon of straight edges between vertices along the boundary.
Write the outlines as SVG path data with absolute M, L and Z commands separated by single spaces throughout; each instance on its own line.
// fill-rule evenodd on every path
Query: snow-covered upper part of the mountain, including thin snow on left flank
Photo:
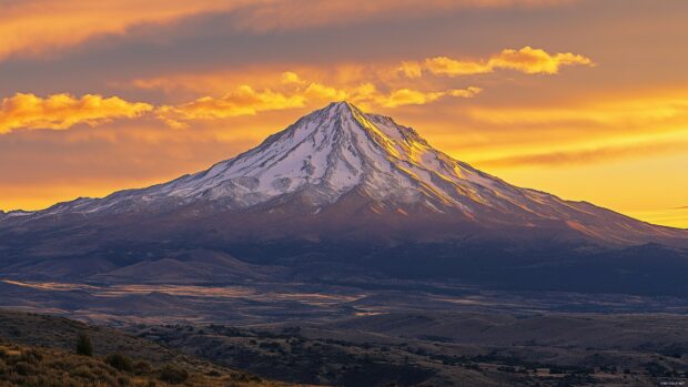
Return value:
M 242 210 L 294 194 L 306 197 L 305 205 L 321 207 L 353 191 L 375 203 L 439 213 L 452 208 L 469 217 L 485 208 L 510 211 L 515 203 L 518 212 L 535 213 L 520 202 L 539 195 L 454 160 L 391 118 L 334 102 L 206 171 L 48 211 L 125 212 L 146 203 L 159 207 L 209 201 Z

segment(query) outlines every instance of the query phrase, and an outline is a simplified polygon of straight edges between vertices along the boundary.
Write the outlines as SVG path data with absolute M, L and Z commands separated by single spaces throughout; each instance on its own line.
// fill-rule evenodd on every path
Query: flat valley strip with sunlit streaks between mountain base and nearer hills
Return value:
M 0 279 L 0 307 L 47 312 L 84 322 L 232 324 L 328 322 L 391 313 L 668 313 L 688 315 L 670 296 L 515 292 L 462 283 L 397 279 L 346 283 L 57 283 Z

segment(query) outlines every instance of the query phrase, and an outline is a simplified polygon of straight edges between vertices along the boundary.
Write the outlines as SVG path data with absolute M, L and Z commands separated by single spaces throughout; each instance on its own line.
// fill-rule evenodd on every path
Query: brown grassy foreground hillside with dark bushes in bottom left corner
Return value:
M 0 310 L 0 386 L 286 386 L 122 330 Z

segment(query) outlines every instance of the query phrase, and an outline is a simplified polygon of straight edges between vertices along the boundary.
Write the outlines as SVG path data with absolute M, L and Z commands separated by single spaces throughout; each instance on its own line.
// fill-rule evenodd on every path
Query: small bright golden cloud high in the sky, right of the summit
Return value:
M 520 50 L 506 49 L 487 60 L 455 60 L 447 57 L 428 58 L 423 63 L 403 62 L 397 68 L 407 78 L 418 78 L 423 70 L 435 75 L 461 77 L 485 74 L 498 69 L 519 71 L 526 74 L 556 74 L 565 65 L 594 65 L 589 58 L 561 52 L 550 54 L 529 45 Z

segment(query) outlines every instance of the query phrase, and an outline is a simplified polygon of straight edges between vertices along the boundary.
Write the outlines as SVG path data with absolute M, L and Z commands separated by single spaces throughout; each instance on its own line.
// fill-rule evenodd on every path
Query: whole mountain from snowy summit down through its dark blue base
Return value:
M 340 102 L 206 171 L 4 214 L 0 279 L 260 284 L 260 292 L 449 279 L 685 296 L 682 247 L 688 231 L 516 187 L 389 118 Z

